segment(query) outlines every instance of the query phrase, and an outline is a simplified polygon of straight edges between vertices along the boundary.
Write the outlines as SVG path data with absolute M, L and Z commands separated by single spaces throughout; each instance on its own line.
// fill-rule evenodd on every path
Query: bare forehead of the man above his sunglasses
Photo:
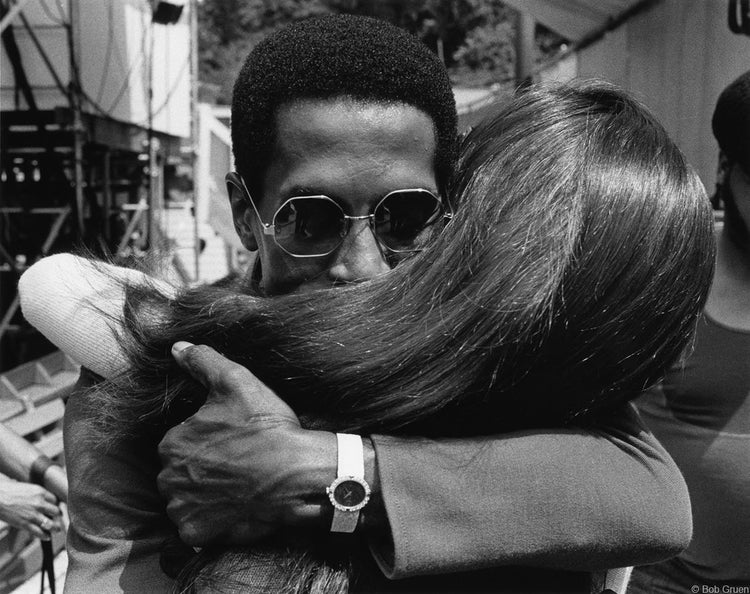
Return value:
M 264 180 L 271 194 L 436 191 L 434 126 L 412 106 L 298 100 L 277 114 L 276 136 Z

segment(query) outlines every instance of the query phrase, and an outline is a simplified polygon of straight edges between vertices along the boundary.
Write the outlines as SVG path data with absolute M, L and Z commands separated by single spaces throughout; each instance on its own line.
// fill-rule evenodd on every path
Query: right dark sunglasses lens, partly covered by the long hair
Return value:
M 443 205 L 427 190 L 399 190 L 383 198 L 374 214 L 380 241 L 394 252 L 411 252 L 424 247 Z

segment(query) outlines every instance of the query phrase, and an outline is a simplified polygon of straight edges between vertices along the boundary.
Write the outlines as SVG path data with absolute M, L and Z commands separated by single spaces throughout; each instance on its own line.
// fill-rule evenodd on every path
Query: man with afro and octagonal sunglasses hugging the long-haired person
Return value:
M 379 225 L 383 205 L 420 229 L 443 224 L 456 122 L 443 65 L 385 22 L 321 17 L 259 43 L 232 104 L 229 199 L 257 252 L 238 290 L 272 297 L 388 273 L 419 233 Z M 450 440 L 292 435 L 262 413 L 250 432 L 202 408 L 167 433 L 159 461 L 153 444 L 92 453 L 91 397 L 74 394 L 66 419 L 71 592 L 168 590 L 165 511 L 192 546 L 364 538 L 401 591 L 587 591 L 586 571 L 686 544 L 684 485 L 630 408 L 592 430 Z

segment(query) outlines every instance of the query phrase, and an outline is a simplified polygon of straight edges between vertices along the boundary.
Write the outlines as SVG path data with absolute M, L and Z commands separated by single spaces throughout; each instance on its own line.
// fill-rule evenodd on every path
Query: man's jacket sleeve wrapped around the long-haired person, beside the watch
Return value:
M 630 405 L 592 431 L 372 442 L 392 538 L 373 531 L 371 549 L 392 578 L 639 565 L 690 541 L 684 479 Z

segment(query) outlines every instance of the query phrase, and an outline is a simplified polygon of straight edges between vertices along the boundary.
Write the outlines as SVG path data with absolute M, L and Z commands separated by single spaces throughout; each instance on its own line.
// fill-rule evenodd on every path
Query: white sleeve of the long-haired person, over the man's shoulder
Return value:
M 39 260 L 21 276 L 18 293 L 29 323 L 73 360 L 102 377 L 123 371 L 126 360 L 115 332 L 122 319 L 125 286 L 174 288 L 137 270 L 72 254 Z

